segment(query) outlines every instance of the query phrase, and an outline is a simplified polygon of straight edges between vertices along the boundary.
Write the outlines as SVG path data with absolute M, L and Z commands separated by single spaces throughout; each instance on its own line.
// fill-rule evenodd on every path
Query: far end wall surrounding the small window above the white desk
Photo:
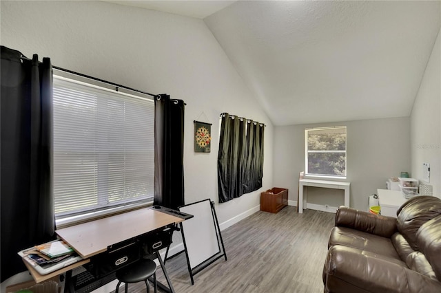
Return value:
M 297 200 L 298 174 L 305 171 L 305 128 L 347 126 L 347 181 L 351 182 L 350 206 L 367 210 L 367 198 L 386 188 L 388 177 L 410 171 L 410 119 L 386 118 L 302 124 L 274 130 L 274 186 L 289 188 L 289 200 Z M 343 194 L 309 188 L 311 204 L 338 207 Z

